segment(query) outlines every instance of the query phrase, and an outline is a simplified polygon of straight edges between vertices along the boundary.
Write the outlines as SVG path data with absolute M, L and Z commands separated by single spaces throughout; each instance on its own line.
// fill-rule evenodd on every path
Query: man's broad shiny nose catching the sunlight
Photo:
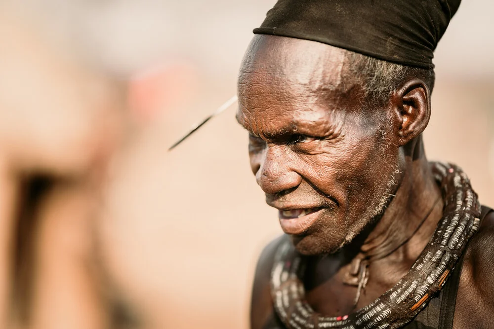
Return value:
M 297 187 L 302 178 L 290 166 L 292 159 L 283 146 L 267 146 L 259 157 L 255 180 L 266 194 L 277 194 Z

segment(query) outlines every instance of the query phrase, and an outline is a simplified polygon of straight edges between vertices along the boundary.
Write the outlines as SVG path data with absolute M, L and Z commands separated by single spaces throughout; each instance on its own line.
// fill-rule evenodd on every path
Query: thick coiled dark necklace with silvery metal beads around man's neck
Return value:
M 480 203 L 468 177 L 451 164 L 433 163 L 444 199 L 443 219 L 410 271 L 393 288 L 356 312 L 327 317 L 305 300 L 305 259 L 290 242 L 275 256 L 271 275 L 274 309 L 289 329 L 394 329 L 410 322 L 445 285 L 480 225 Z

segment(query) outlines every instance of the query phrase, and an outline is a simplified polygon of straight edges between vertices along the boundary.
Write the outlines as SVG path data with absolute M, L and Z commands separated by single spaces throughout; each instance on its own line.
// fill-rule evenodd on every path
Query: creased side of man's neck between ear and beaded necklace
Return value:
M 441 191 L 433 178 L 421 139 L 414 141 L 405 152 L 406 169 L 396 196 L 367 236 L 361 251 L 366 257 L 385 254 L 410 238 L 417 227 L 420 228 L 403 246 L 384 257 L 379 262 L 380 266 L 397 257 L 412 266 L 442 217 Z M 422 223 L 425 217 L 428 218 Z

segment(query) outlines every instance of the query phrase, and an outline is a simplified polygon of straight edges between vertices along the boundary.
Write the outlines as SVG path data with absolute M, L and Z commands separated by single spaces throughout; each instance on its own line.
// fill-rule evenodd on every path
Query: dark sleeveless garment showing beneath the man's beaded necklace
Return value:
M 482 206 L 480 215 L 481 222 L 493 210 Z M 456 304 L 456 292 L 460 282 L 461 265 L 463 264 L 463 256 L 460 257 L 456 267 L 454 268 L 448 282 L 444 288 L 429 301 L 429 304 L 412 320 L 411 323 L 403 327 L 403 329 L 452 329 L 454 306 Z M 264 329 L 280 329 L 285 328 L 278 316 L 272 314 L 270 319 L 263 326 Z

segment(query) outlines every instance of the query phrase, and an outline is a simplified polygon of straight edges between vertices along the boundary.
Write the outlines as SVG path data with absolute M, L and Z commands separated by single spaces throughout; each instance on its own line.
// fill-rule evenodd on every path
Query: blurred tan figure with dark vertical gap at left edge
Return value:
M 0 327 L 106 328 L 93 226 L 121 86 L 3 9 Z

